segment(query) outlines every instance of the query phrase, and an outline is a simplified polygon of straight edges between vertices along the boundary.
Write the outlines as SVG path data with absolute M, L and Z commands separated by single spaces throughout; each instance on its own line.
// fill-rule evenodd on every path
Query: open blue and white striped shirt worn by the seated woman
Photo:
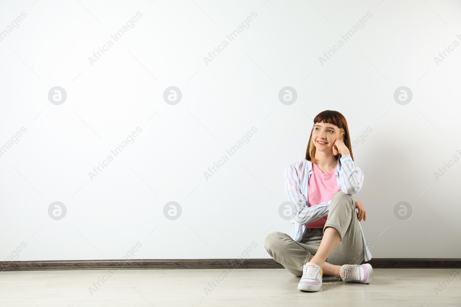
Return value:
M 307 181 L 309 181 L 311 173 L 312 162 L 306 159 L 290 164 L 285 168 L 284 172 L 285 191 L 288 200 L 294 204 L 294 208 L 292 208 L 294 209 L 294 219 L 292 221 L 294 225 L 291 238 L 296 242 L 299 242 L 302 238 L 302 233 L 306 228 L 304 225 L 328 215 L 331 202 L 331 200 L 329 200 L 328 202 L 319 203 L 316 206 L 307 206 Z M 355 194 L 360 191 L 363 184 L 363 171 L 355 166 L 351 156 L 345 155 L 339 159 L 335 174 L 340 191 L 346 194 Z M 372 254 L 366 246 L 365 236 L 360 221 L 359 226 L 363 239 L 364 261 L 369 261 L 372 258 Z

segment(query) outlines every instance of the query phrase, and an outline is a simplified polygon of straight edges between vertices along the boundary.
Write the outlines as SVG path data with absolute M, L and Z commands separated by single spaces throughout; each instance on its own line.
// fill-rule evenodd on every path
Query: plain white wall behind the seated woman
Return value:
M 353 154 L 366 175 L 354 198 L 367 212 L 372 256 L 461 257 L 461 162 L 434 174 L 461 158 L 461 46 L 434 59 L 461 42 L 458 1 L 149 2 L 0 4 L 0 31 L 11 30 L 0 41 L 3 261 L 120 259 L 137 242 L 130 258 L 237 258 L 252 242 L 251 258 L 270 258 L 265 235 L 292 228 L 278 215 L 284 168 L 304 159 L 323 110 L 341 112 L 358 139 Z M 136 12 L 142 17 L 114 41 Z M 206 64 L 223 40 L 229 45 Z M 59 105 L 48 99 L 56 86 L 67 94 Z M 175 105 L 163 99 L 171 86 L 182 93 Z M 296 90 L 293 104 L 278 99 L 285 86 Z M 394 100 L 402 86 L 413 93 L 405 105 Z M 114 156 L 136 127 L 142 132 Z M 56 201 L 67 210 L 61 220 L 48 214 Z M 176 220 L 164 215 L 171 201 L 182 208 Z M 408 220 L 394 214 L 402 201 L 413 209 Z

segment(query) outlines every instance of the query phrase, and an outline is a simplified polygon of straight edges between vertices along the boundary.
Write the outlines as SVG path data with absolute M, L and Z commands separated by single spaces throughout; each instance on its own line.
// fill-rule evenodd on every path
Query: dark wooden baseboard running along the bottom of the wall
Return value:
M 372 258 L 376 269 L 444 268 L 461 269 L 461 259 L 454 258 Z M 128 260 L 49 260 L 4 261 L 2 271 L 35 270 L 110 270 L 110 269 L 278 269 L 284 268 L 272 258 L 245 259 L 128 259 Z

